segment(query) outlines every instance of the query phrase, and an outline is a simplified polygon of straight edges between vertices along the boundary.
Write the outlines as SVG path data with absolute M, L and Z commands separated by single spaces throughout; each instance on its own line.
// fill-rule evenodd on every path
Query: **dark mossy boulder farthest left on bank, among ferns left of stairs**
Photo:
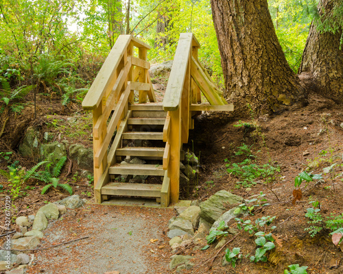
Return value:
M 39 132 L 36 132 L 33 127 L 27 127 L 23 142 L 21 142 L 21 145 L 19 145 L 19 153 L 21 153 L 21 155 L 24 157 L 38 157 L 39 138 Z

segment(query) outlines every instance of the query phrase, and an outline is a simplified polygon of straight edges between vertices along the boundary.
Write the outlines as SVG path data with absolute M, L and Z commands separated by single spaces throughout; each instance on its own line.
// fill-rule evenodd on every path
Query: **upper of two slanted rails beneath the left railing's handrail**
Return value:
M 94 125 L 93 137 L 95 139 L 99 138 L 99 128 L 102 128 L 103 125 L 106 124 L 108 117 L 110 116 L 110 112 L 112 111 L 112 105 L 115 105 L 115 101 L 119 95 L 119 92 L 123 87 L 124 82 L 126 81 L 126 77 L 128 77 L 130 67 L 131 63 L 130 61 L 128 61 L 126 66 L 124 66 L 121 72 L 119 73 L 117 82 L 115 83 L 115 86 L 113 86 L 113 90 L 108 96 L 108 99 L 106 100 L 104 112 L 102 116 L 100 116 L 99 119 L 97 119 L 97 123 Z

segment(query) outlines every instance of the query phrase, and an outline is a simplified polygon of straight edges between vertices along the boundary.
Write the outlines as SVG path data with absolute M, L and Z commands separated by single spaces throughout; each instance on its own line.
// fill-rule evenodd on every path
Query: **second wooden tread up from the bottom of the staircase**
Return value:
M 165 175 L 162 164 L 115 164 L 110 166 L 109 173 L 118 175 Z

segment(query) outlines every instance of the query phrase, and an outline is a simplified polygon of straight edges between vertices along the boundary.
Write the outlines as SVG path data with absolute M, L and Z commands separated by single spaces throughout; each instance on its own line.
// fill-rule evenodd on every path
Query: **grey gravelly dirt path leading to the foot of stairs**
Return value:
M 170 209 L 85 205 L 69 210 L 44 231 L 40 247 L 89 236 L 35 253 L 27 273 L 169 273 L 161 257 Z M 159 255 L 157 256 L 156 253 Z

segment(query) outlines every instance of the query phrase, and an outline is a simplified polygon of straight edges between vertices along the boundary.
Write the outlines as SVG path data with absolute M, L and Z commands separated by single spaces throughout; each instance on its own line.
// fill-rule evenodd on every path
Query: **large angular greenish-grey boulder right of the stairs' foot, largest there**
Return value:
M 213 224 L 230 208 L 230 205 L 241 203 L 242 201 L 242 197 L 227 192 L 226 190 L 220 190 L 208 200 L 200 203 L 200 217 Z

